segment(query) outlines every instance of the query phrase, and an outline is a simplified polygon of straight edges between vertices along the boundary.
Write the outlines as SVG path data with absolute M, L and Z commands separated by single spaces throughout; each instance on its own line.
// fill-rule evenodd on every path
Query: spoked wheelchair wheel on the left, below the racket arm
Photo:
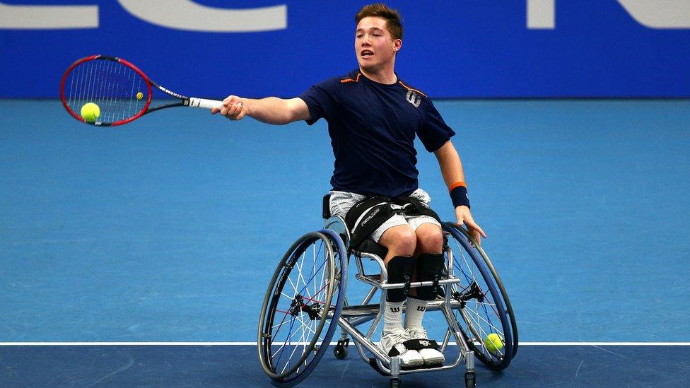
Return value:
M 300 237 L 283 256 L 259 317 L 259 360 L 276 384 L 304 380 L 327 351 L 344 298 L 344 249 L 329 231 Z

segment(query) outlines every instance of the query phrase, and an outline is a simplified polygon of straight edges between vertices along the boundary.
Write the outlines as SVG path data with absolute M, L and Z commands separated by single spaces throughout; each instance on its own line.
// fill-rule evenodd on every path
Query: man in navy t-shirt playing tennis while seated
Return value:
M 355 71 L 317 83 L 300 97 L 288 100 L 230 95 L 221 109 L 211 112 L 233 120 L 249 115 L 269 124 L 298 120 L 313 124 L 324 117 L 335 156 L 332 215 L 353 218 L 349 211 L 358 208 L 353 205 L 363 204 L 372 196 L 395 199 L 384 205 L 390 218 L 382 220 L 368 237 L 387 248 L 384 261 L 389 283 L 429 281 L 443 268 L 443 233 L 435 213 L 425 210 L 430 201 L 428 194 L 418 187 L 415 136 L 438 159 L 457 223 L 464 223 L 477 241 L 480 235 L 486 235 L 469 211 L 462 164 L 450 141 L 455 132 L 424 93 L 408 86 L 394 72 L 397 52 L 402 48 L 399 13 L 385 4 L 371 4 L 363 7 L 355 20 L 359 64 Z M 404 212 L 411 208 L 405 204 L 416 204 L 418 211 Z M 361 220 L 362 214 L 355 216 Z M 428 340 L 421 324 L 423 314 L 428 301 L 436 297 L 431 286 L 412 288 L 409 295 L 402 289 L 387 293 L 380 346 L 389 355 L 398 355 L 402 366 L 444 361 L 438 348 L 423 341 Z M 403 324 L 402 305 L 406 299 Z

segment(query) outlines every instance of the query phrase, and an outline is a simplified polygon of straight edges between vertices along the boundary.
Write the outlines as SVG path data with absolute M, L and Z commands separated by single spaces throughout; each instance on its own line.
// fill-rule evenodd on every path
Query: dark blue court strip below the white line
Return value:
M 387 387 L 358 358 L 326 353 L 300 387 Z M 480 387 L 688 387 L 690 346 L 522 346 L 508 370 L 477 365 Z M 5 387 L 271 387 L 255 346 L 2 346 Z M 404 387 L 460 387 L 453 370 L 402 376 Z

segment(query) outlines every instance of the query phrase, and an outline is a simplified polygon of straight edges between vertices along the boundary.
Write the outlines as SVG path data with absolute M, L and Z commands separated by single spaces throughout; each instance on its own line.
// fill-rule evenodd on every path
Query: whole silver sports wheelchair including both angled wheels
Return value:
M 401 375 L 447 370 L 462 361 L 465 386 L 474 387 L 475 358 L 492 370 L 510 365 L 517 353 L 513 307 L 489 257 L 467 230 L 455 223 L 442 223 L 443 276 L 434 281 L 388 283 L 383 261 L 386 248 L 373 240 L 366 240 L 357 249 L 349 247 L 350 232 L 343 218 L 330 216 L 327 197 L 324 228 L 303 235 L 288 249 L 271 278 L 262 305 L 257 339 L 259 361 L 274 384 L 292 386 L 304 380 L 327 352 L 338 326 L 341 337 L 333 348 L 335 357 L 347 356 L 351 337 L 361 358 L 390 377 L 390 387 L 399 387 Z M 361 305 L 349 304 L 345 295 L 350 257 L 354 257 L 357 266 L 355 278 L 370 287 Z M 367 274 L 363 259 L 378 264 L 380 273 Z M 372 338 L 384 316 L 387 290 L 407 291 L 421 286 L 442 290 L 442 296 L 429 302 L 426 311 L 440 311 L 448 322 L 439 345 L 446 363 L 401 368 L 399 358 L 385 354 Z M 377 290 L 380 300 L 372 303 Z M 358 329 L 368 322 L 372 323 L 366 332 Z M 496 345 L 487 339 L 490 334 L 498 335 L 501 343 Z M 455 340 L 457 356 L 450 351 L 451 339 Z M 451 353 L 455 360 L 449 362 Z

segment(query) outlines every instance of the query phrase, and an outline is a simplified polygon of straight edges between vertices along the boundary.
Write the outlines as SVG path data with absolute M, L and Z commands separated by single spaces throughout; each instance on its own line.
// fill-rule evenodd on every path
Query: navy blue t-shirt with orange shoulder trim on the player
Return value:
M 308 124 L 328 122 L 334 190 L 409 195 L 419 185 L 415 135 L 429 152 L 455 135 L 431 99 L 399 79 L 385 85 L 356 70 L 317 83 L 300 98 L 309 107 Z

